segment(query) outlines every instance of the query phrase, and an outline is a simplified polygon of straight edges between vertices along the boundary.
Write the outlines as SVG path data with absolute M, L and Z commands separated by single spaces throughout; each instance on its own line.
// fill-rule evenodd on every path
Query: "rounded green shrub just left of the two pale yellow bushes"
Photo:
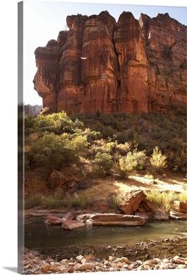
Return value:
M 100 177 L 105 177 L 113 166 L 111 155 L 108 153 L 96 153 L 94 172 Z

